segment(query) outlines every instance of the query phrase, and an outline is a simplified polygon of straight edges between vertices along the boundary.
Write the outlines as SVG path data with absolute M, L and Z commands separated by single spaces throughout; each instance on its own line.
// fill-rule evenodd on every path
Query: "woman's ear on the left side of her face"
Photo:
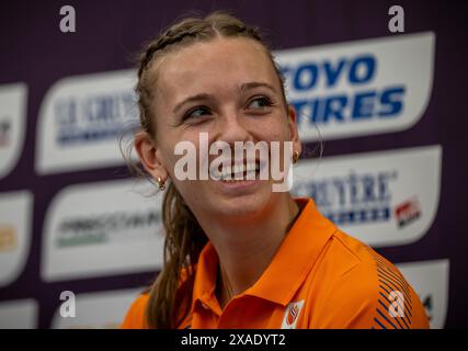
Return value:
M 162 181 L 168 179 L 168 171 L 162 163 L 159 149 L 148 133 L 138 132 L 135 134 L 135 149 L 142 167 L 153 179 L 161 178 Z

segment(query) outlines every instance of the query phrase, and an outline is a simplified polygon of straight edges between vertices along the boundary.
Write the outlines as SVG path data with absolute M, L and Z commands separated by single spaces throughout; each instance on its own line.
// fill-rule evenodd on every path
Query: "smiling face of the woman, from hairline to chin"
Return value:
M 255 215 L 279 196 L 288 196 L 272 192 L 273 180 L 179 180 L 174 171 L 182 157 L 174 155 L 180 141 L 195 146 L 197 167 L 199 158 L 208 165 L 217 158 L 202 147 L 201 133 L 208 134 L 208 146 L 218 140 L 229 144 L 232 163 L 235 141 L 270 146 L 293 140 L 293 149 L 300 151 L 294 110 L 285 106 L 279 79 L 258 43 L 247 38 L 197 42 L 155 66 L 158 159 L 195 215 Z

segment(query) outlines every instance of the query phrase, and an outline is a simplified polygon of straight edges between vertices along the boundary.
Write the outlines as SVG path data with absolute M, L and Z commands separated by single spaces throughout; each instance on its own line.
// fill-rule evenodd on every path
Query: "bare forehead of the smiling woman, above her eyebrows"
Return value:
M 265 48 L 249 38 L 216 38 L 164 56 L 158 67 L 157 89 L 170 102 L 251 81 L 279 84 Z

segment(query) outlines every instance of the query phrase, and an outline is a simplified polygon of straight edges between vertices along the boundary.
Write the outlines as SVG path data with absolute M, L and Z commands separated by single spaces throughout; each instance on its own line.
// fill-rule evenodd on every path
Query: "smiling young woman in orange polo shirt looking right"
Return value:
M 219 178 L 178 176 L 181 141 L 194 145 L 196 165 L 216 158 L 203 151 L 204 133 L 208 145 L 289 141 L 297 162 L 295 110 L 255 29 L 224 13 L 175 23 L 141 56 L 136 91 L 135 147 L 165 192 L 167 238 L 162 271 L 123 328 L 427 328 L 395 265 L 311 199 L 273 191 L 278 181 L 261 179 L 258 158 L 233 157 Z

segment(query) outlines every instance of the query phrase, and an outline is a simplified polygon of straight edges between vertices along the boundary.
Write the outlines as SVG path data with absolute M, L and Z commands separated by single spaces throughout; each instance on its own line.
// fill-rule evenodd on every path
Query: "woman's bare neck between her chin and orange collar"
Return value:
M 221 308 L 230 295 L 259 280 L 297 217 L 298 205 L 289 194 L 284 196 L 255 218 L 198 218 L 219 257 L 217 296 Z

